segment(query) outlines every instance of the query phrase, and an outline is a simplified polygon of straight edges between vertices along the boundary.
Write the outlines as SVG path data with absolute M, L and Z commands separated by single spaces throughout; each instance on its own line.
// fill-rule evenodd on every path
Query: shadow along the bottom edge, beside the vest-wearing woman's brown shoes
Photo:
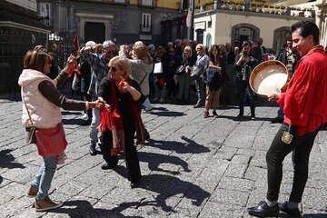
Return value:
M 112 210 L 94 208 L 91 203 L 84 200 L 68 201 L 64 202 L 63 207 L 55 209 L 51 213 L 65 213 L 72 218 L 80 217 L 108 217 L 108 218 L 123 218 L 123 217 L 135 217 L 142 218 L 141 216 L 125 216 L 121 212 L 127 208 L 135 207 L 139 202 L 134 203 L 121 203 L 117 207 L 114 207 Z

